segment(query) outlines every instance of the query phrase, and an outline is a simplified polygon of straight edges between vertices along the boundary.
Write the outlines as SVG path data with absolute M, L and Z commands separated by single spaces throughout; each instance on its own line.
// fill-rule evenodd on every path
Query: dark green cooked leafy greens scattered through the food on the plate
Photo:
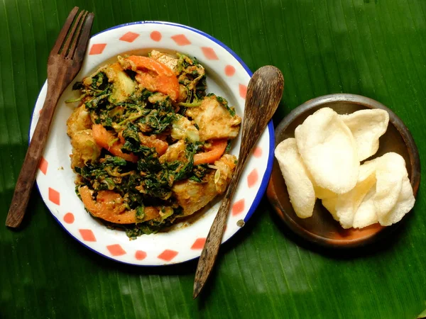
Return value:
M 172 101 L 168 96 L 135 86 L 133 93 L 118 100 L 114 87 L 117 78 L 111 77 L 106 69 L 99 69 L 83 82 L 75 82 L 72 89 L 80 91 L 80 98 L 70 100 L 84 103 L 93 123 L 101 124 L 114 135 L 114 142 L 121 143 L 121 152 L 138 156 L 137 162 L 128 162 L 121 157 L 111 156 L 109 150 L 102 150 L 96 162 L 88 162 L 84 167 L 75 167 L 78 174 L 76 193 L 80 186 L 88 186 L 99 191 L 114 191 L 123 198 L 128 210 L 136 211 L 137 223 L 119 225 L 107 223 L 109 227 L 119 227 L 135 238 L 141 234 L 157 233 L 158 230 L 173 223 L 183 211 L 172 196 L 175 181 L 190 179 L 197 183 L 205 182 L 211 169 L 207 164 L 194 165 L 194 156 L 202 149 L 202 143 L 185 141 L 185 159 L 173 162 L 160 161 L 155 147 L 142 145 L 143 135 L 162 135 L 163 140 L 173 143 L 170 136 L 172 123 L 177 113 L 185 116 L 187 108 L 198 107 L 206 96 L 207 80 L 204 67 L 195 57 L 178 54 L 178 82 L 184 86 L 185 97 Z M 105 72 L 104 72 L 105 71 Z M 125 74 L 136 82 L 136 72 L 129 69 Z M 122 75 L 122 74 L 121 74 Z M 108 78 L 110 77 L 110 78 Z M 114 92 L 114 94 L 113 94 Z M 114 98 L 113 98 L 114 97 Z M 226 100 L 216 96 L 217 101 L 235 115 Z M 198 129 L 197 124 L 195 127 Z M 143 135 L 141 135 L 143 134 Z M 164 137 L 166 135 L 166 137 Z M 114 143 L 111 142 L 111 145 Z M 109 145 L 109 146 L 111 146 Z M 229 145 L 226 148 L 229 150 Z M 160 216 L 143 221 L 146 207 L 162 207 Z

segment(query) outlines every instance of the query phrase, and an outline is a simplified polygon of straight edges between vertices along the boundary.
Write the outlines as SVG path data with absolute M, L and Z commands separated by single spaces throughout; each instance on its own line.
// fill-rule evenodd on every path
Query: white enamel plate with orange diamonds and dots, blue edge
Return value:
M 152 49 L 182 52 L 197 57 L 207 71 L 207 91 L 223 96 L 236 112 L 244 115 L 249 68 L 229 47 L 200 30 L 175 23 L 143 21 L 104 30 L 94 35 L 76 81 L 100 65 L 126 52 L 147 53 Z M 72 84 L 65 90 L 50 128 L 48 143 L 36 177 L 43 201 L 67 233 L 90 250 L 126 264 L 159 266 L 177 264 L 200 257 L 219 199 L 204 209 L 193 222 L 182 222 L 165 233 L 141 235 L 136 240 L 121 230 L 111 230 L 84 210 L 75 194 L 75 173 L 70 168 L 71 145 L 66 121 L 74 106 L 65 103 L 78 95 Z M 47 84 L 40 91 L 31 121 L 30 138 L 45 101 Z M 238 156 L 241 136 L 234 140 L 231 153 Z M 229 240 L 250 218 L 261 201 L 273 161 L 273 125 L 269 123 L 249 157 L 234 201 L 222 242 Z M 243 223 L 244 222 L 244 223 Z

